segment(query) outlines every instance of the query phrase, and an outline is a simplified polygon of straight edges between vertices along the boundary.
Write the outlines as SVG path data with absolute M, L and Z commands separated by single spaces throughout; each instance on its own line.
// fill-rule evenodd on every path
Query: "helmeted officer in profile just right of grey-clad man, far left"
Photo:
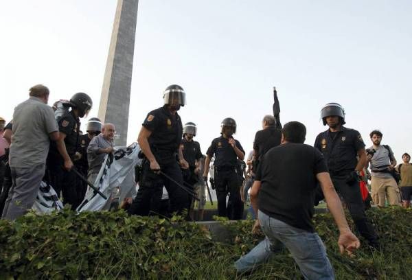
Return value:
M 80 119 L 86 117 L 93 104 L 86 93 L 76 93 L 70 99 L 71 110 L 58 120 L 60 137 L 50 143 L 47 156 L 46 180 L 54 187 L 58 196 L 62 192 L 63 202 L 78 207 L 76 174 L 71 172 L 73 159 L 78 150 Z

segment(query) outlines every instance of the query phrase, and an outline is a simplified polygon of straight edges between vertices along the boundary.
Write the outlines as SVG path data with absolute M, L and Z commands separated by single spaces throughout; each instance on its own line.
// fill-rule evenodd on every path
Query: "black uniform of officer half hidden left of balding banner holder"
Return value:
M 82 157 L 74 162 L 78 172 L 80 172 L 85 178 L 87 178 L 87 171 L 89 170 L 89 162 L 87 161 L 87 147 L 89 146 L 91 139 L 89 137 L 89 133 L 82 135 L 79 137 L 79 145 L 78 145 L 78 152 L 82 155 Z M 77 180 L 77 197 L 78 197 L 78 204 L 83 201 L 84 196 L 86 195 L 87 191 L 87 183 L 84 180 Z

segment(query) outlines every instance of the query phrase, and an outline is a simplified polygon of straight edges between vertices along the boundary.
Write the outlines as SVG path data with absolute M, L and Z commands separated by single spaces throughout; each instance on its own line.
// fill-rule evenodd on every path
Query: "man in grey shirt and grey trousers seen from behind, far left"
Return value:
M 47 106 L 49 89 L 38 84 L 30 98 L 14 108 L 9 164 L 13 180 L 2 218 L 14 220 L 32 208 L 41 180 L 50 139 L 59 138 L 52 107 Z

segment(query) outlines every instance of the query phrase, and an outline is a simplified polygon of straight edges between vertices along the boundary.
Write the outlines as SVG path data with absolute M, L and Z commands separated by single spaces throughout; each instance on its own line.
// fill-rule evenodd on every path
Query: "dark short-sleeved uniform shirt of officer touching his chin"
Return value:
M 242 145 L 235 139 L 236 147 L 244 153 Z M 212 158 L 215 155 L 215 167 L 236 167 L 238 156 L 229 144 L 229 139 L 223 136 L 213 139 L 206 154 Z

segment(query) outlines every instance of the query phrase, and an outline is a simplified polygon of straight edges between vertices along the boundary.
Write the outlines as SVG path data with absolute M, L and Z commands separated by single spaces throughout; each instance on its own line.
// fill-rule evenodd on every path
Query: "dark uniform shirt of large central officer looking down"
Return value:
M 174 158 L 181 144 L 183 126 L 178 113 L 172 115 L 165 106 L 148 113 L 142 126 L 152 132 L 148 141 L 159 164 L 176 161 Z

